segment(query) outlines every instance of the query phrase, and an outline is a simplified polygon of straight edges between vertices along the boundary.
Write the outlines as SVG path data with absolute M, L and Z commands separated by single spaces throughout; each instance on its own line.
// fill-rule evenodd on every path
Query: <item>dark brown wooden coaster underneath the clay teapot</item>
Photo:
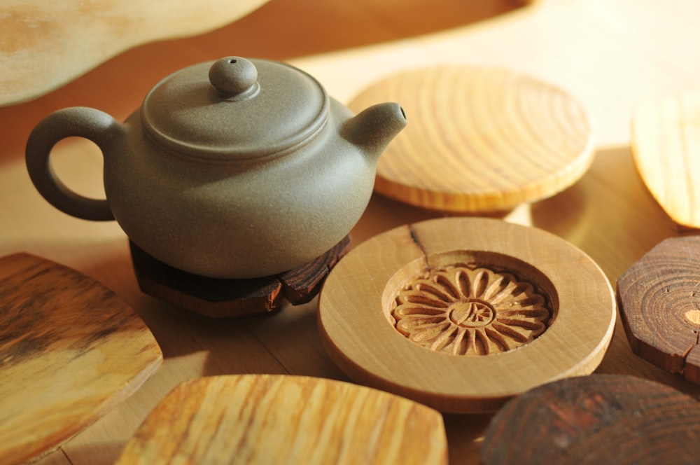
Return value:
M 316 260 L 295 270 L 255 279 L 215 279 L 166 265 L 130 242 L 141 291 L 186 310 L 214 318 L 243 317 L 278 310 L 283 300 L 307 303 L 318 294 L 328 272 L 350 247 L 346 236 Z

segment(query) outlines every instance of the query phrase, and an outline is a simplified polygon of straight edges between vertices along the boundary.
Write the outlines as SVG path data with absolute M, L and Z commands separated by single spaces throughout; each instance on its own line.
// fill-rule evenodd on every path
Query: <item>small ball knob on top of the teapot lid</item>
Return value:
M 258 69 L 245 58 L 222 58 L 209 68 L 209 82 L 227 98 L 248 97 L 258 90 Z

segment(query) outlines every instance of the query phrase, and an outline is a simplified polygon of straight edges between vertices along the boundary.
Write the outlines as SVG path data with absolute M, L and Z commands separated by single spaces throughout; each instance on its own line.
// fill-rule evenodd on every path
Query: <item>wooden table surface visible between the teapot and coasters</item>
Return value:
M 694 0 L 541 0 L 531 6 L 506 0 L 272 0 L 234 25 L 129 50 L 40 99 L 1 108 L 0 256 L 27 251 L 98 279 L 137 310 L 165 356 L 164 366 L 134 396 L 40 463 L 112 463 L 156 403 L 192 377 L 290 373 L 346 380 L 321 347 L 316 300 L 269 317 L 211 321 L 142 294 L 116 223 L 62 214 L 31 185 L 24 144 L 40 118 L 85 105 L 123 120 L 163 76 L 226 55 L 288 60 L 344 102 L 402 69 L 445 63 L 508 67 L 580 99 L 597 151 L 591 169 L 573 187 L 503 219 L 572 242 L 614 285 L 651 247 L 679 235 L 636 172 L 630 121 L 643 99 L 700 89 L 697 18 L 700 4 Z M 52 159 L 69 186 L 104 195 L 102 158 L 92 144 L 68 139 Z M 375 195 L 353 240 L 437 216 Z M 700 387 L 633 355 L 619 321 L 598 372 L 637 375 L 700 394 Z M 451 463 L 477 462 L 490 416 L 444 419 Z

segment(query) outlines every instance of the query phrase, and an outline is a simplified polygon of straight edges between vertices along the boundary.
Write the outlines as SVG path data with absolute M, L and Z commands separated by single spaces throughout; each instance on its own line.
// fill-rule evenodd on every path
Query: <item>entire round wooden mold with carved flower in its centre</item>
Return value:
M 591 373 L 615 326 L 608 279 L 548 232 L 487 218 L 405 225 L 360 244 L 318 302 L 353 380 L 444 412 L 489 412 Z

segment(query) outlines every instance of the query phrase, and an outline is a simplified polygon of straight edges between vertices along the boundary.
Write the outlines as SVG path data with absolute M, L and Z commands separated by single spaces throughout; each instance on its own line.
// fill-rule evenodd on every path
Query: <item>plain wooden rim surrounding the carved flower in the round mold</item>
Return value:
M 486 356 L 427 349 L 397 331 L 390 314 L 401 284 L 456 264 L 533 284 L 552 308 L 546 331 Z M 615 326 L 612 288 L 589 256 L 490 218 L 440 218 L 373 237 L 339 261 L 318 307 L 325 349 L 353 380 L 443 412 L 490 412 L 540 384 L 589 374 Z

